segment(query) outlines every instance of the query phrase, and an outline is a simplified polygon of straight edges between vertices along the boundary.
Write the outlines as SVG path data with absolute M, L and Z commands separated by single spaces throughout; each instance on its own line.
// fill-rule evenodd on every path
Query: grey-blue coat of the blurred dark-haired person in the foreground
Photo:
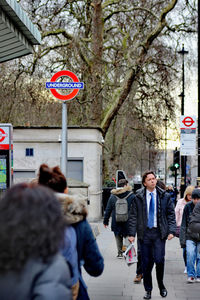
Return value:
M 16 258 L 17 259 L 17 258 Z M 71 300 L 71 277 L 64 258 L 31 259 L 21 272 L 0 275 L 1 300 Z

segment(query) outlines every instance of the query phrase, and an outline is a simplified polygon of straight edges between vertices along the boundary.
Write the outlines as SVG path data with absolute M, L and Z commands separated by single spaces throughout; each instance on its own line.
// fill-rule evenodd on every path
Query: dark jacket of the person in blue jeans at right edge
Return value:
M 200 242 L 200 234 L 195 233 L 189 228 L 190 218 L 192 216 L 192 212 L 195 205 L 193 201 L 188 202 L 183 210 L 183 217 L 180 228 L 180 244 L 181 247 L 184 248 L 186 246 L 186 240 L 192 240 L 194 242 Z

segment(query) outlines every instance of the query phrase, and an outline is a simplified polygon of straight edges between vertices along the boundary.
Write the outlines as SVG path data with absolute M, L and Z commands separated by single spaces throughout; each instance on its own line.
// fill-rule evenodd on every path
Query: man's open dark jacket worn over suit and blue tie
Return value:
M 174 206 L 170 195 L 159 187 L 157 191 L 157 224 L 160 230 L 161 239 L 166 239 L 171 233 L 175 235 L 176 219 Z M 137 191 L 135 199 L 131 206 L 128 234 L 129 236 L 138 236 L 138 239 L 143 240 L 144 231 L 147 228 L 147 204 L 146 204 L 146 188 L 141 188 Z

